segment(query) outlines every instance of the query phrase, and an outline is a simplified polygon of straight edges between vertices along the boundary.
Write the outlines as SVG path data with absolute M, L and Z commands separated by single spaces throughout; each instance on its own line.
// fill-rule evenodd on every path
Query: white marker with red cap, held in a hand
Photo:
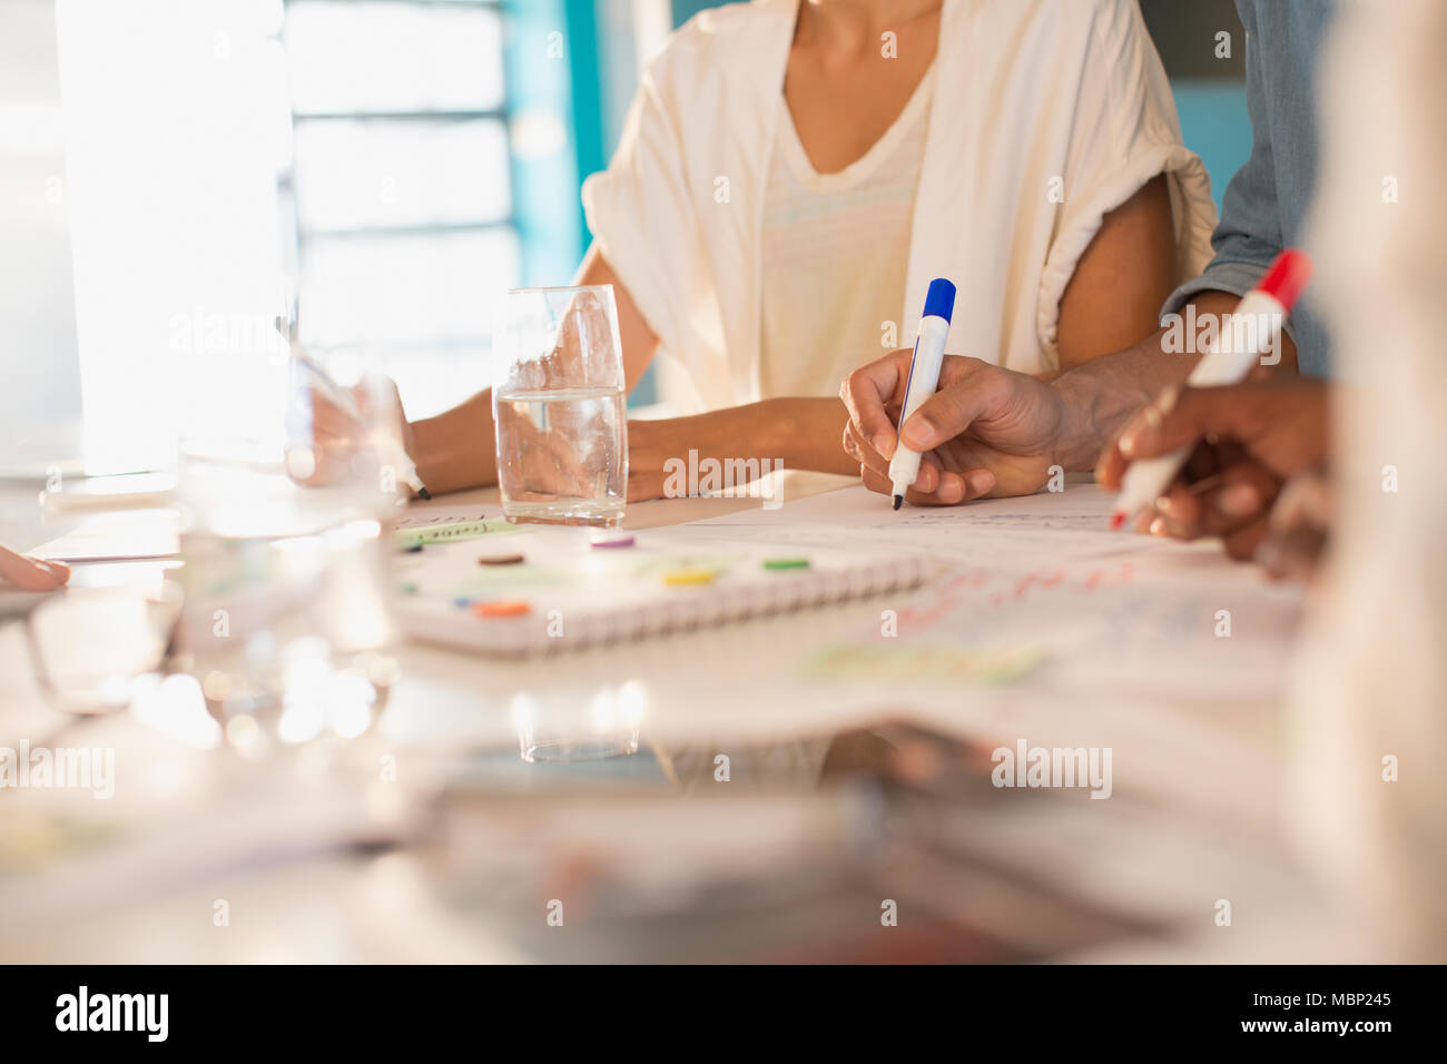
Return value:
M 1243 381 L 1260 356 L 1281 340 L 1286 314 L 1310 279 L 1311 259 L 1305 253 L 1286 249 L 1278 255 L 1260 284 L 1236 305 L 1233 327 L 1218 332 L 1217 343 L 1191 371 L 1187 385 L 1211 388 Z M 1250 324 L 1257 327 L 1243 327 Z M 1189 455 L 1191 446 L 1184 446 L 1132 463 L 1121 481 L 1110 527 L 1120 528 L 1132 514 L 1152 505 L 1171 486 Z

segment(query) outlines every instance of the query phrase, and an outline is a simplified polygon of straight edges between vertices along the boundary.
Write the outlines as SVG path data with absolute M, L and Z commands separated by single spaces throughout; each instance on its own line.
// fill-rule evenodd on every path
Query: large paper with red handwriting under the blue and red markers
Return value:
M 1113 691 L 1146 701 L 1279 696 L 1301 591 L 1230 562 L 1218 544 L 1111 531 L 1111 502 L 1097 486 L 1078 485 L 894 512 L 883 495 L 848 488 L 690 530 L 737 536 L 747 525 L 799 547 L 884 546 L 945 562 L 941 578 L 881 604 L 888 615 L 849 641 L 907 643 L 909 653 L 923 654 L 929 676 L 941 672 L 930 662 L 955 660 L 954 672 L 967 679 L 1014 679 L 1056 693 Z M 909 657 L 860 651 L 845 672 L 857 682 L 888 685 L 897 682 L 901 656 Z M 1039 664 L 984 667 L 1000 660 Z

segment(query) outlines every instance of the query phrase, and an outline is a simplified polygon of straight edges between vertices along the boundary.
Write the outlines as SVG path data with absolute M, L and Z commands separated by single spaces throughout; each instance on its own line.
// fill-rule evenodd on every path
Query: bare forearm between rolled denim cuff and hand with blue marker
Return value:
M 1239 298 L 1202 292 L 1192 303 L 1200 318 L 1230 311 Z M 1200 359 L 1195 345 L 1185 345 L 1184 352 L 1163 350 L 1163 336 L 1165 330 L 1158 330 L 1133 347 L 1087 362 L 1051 382 L 1064 405 L 1056 460 L 1065 469 L 1094 469 L 1106 444 L 1136 411 L 1191 373 Z

